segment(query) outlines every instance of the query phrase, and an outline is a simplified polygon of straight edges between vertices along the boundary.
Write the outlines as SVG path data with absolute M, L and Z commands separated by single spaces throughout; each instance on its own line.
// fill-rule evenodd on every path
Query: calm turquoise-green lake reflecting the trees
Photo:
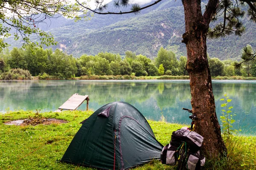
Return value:
M 256 132 L 256 81 L 213 80 L 216 112 L 221 116 L 224 93 L 233 106 L 236 127 Z M 89 108 L 96 111 L 115 101 L 134 105 L 147 119 L 189 123 L 191 108 L 189 80 L 32 80 L 0 81 L 0 112 L 8 110 L 55 111 L 73 94 L 89 95 Z M 86 102 L 79 107 L 86 109 Z

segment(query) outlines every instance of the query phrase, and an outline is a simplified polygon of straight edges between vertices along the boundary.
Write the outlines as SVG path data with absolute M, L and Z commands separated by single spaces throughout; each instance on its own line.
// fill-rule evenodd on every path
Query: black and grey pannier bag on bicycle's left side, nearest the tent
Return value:
M 162 164 L 175 165 L 177 161 L 177 147 L 172 146 L 172 144 L 167 144 L 163 147 L 161 152 L 161 162 Z

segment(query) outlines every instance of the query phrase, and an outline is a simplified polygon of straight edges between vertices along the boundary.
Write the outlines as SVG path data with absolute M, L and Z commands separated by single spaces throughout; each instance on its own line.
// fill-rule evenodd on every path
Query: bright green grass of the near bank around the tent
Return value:
M 59 163 L 73 136 L 81 127 L 79 122 L 86 119 L 92 111 L 65 111 L 62 113 L 41 113 L 44 117 L 64 119 L 68 123 L 51 125 L 4 125 L 4 122 L 26 119 L 35 116 L 30 111 L 15 111 L 0 115 L 0 170 L 90 170 L 72 164 Z M 148 121 L 157 140 L 163 145 L 169 143 L 172 131 L 184 125 L 166 122 Z M 228 157 L 220 160 L 207 160 L 207 169 L 219 170 L 255 170 L 256 137 L 239 137 L 227 142 Z M 31 153 L 34 151 L 33 153 Z M 31 153 L 31 154 L 29 154 Z M 25 158 L 23 158 L 26 156 Z M 21 159 L 23 158 L 23 159 Z M 159 161 L 152 161 L 136 170 L 172 170 L 174 166 L 166 166 Z

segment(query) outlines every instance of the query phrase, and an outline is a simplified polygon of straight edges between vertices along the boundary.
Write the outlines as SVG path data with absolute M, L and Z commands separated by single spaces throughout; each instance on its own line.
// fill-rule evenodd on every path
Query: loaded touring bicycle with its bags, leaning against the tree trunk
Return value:
M 183 110 L 192 113 L 190 109 Z M 205 157 L 200 154 L 204 137 L 194 131 L 198 117 L 192 114 L 189 118 L 191 126 L 173 131 L 170 143 L 161 152 L 162 164 L 175 165 L 178 161 L 177 170 L 200 170 L 205 164 Z

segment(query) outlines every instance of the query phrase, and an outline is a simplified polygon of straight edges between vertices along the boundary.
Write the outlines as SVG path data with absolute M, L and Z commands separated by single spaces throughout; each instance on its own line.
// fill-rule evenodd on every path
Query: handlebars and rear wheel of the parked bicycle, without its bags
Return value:
M 190 110 L 190 109 L 186 109 L 186 108 L 182 108 L 182 109 L 185 111 L 188 111 L 189 113 L 192 113 L 192 110 Z M 192 119 L 192 122 L 191 122 L 191 126 L 188 129 L 190 131 L 194 131 L 194 129 L 195 129 L 194 121 L 196 119 L 198 119 L 198 117 L 192 114 L 189 116 L 189 119 Z M 187 142 L 182 141 L 182 144 L 180 145 L 180 147 L 177 148 L 177 152 L 178 152 L 177 170 L 184 170 L 185 167 L 187 167 L 187 159 L 189 156 L 189 144 L 187 144 Z

